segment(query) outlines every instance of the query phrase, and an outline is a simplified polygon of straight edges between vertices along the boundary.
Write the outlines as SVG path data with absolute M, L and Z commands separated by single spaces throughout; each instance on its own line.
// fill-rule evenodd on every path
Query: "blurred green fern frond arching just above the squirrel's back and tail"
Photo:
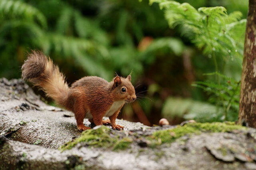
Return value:
M 47 34 L 49 45 L 44 51 L 50 53 L 62 54 L 62 57 L 73 57 L 78 65 L 88 72 L 90 75 L 98 75 L 109 79 L 111 77 L 111 69 L 106 68 L 108 59 L 104 58 L 102 46 L 88 39 L 67 37 L 58 34 Z

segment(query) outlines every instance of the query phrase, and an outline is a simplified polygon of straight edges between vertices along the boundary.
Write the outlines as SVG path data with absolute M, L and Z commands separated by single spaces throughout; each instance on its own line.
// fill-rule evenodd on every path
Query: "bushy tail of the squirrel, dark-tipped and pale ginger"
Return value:
M 57 104 L 66 106 L 69 88 L 65 76 L 41 51 L 28 54 L 22 65 L 22 78 L 40 86 Z

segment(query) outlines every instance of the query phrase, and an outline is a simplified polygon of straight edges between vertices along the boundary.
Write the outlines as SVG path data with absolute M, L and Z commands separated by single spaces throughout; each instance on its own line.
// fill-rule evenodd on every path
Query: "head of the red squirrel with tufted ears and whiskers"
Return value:
M 125 102 L 133 102 L 136 99 L 135 89 L 131 83 L 132 77 L 128 75 L 126 78 L 116 76 L 113 78 L 113 91 L 117 100 Z

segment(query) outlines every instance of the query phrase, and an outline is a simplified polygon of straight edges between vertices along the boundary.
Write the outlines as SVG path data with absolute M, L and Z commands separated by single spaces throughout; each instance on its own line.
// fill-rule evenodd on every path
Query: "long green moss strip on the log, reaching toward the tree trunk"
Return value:
M 178 125 L 174 129 L 156 131 L 153 133 L 150 139 L 154 140 L 152 145 L 155 145 L 156 143 L 171 143 L 179 137 L 191 133 L 200 134 L 201 132 L 228 132 L 237 129 L 246 129 L 246 127 L 235 125 L 232 122 L 188 123 L 184 126 Z

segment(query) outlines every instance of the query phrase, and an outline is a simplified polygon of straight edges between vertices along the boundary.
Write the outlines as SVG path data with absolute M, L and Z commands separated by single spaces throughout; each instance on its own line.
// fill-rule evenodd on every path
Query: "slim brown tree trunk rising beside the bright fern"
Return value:
M 256 127 L 256 0 L 249 0 L 244 42 L 239 123 Z

